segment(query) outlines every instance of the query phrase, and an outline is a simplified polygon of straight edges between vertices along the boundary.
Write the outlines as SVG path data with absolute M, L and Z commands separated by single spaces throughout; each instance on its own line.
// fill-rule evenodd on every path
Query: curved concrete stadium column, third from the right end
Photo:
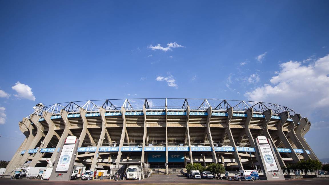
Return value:
M 289 112 L 285 111 L 279 114 L 280 116 L 280 123 L 277 125 L 277 134 L 279 136 L 279 138 L 281 139 L 282 143 L 287 147 L 287 148 L 291 148 L 291 158 L 292 160 L 297 163 L 299 162 L 299 158 L 296 154 L 296 152 L 293 150 L 291 144 L 289 143 L 286 134 L 283 132 L 283 125 L 285 124 L 285 122 L 287 121 L 287 119 L 289 118 Z M 275 145 L 274 145 L 275 146 Z

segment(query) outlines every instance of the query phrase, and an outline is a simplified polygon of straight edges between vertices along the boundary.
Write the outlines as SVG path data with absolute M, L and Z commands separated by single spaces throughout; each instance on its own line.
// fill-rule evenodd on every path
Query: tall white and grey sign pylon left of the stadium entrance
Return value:
M 79 139 L 76 136 L 68 136 L 61 145 L 59 155 L 56 157 L 54 169 L 49 181 L 69 181 L 78 151 Z

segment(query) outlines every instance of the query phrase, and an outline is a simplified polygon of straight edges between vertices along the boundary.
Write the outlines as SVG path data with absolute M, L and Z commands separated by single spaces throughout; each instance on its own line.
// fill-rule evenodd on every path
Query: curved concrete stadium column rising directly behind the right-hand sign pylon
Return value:
M 278 162 L 279 162 L 279 165 L 281 167 L 284 167 L 286 166 L 285 162 L 283 161 L 278 149 L 276 148 L 275 146 L 275 143 L 273 142 L 273 139 L 271 137 L 271 135 L 269 134 L 268 132 L 268 129 L 267 129 L 267 125 L 268 125 L 268 122 L 269 120 L 271 119 L 271 117 L 273 116 L 273 112 L 272 112 L 272 109 L 268 109 L 266 111 L 263 112 L 264 116 L 265 116 L 265 119 L 263 120 L 263 123 L 262 123 L 262 126 L 263 126 L 263 130 L 262 132 L 259 134 L 260 136 L 264 135 L 267 137 L 268 141 L 270 141 L 270 143 L 272 144 L 272 146 L 274 147 L 273 148 L 273 151 L 276 155 L 276 158 L 278 159 Z

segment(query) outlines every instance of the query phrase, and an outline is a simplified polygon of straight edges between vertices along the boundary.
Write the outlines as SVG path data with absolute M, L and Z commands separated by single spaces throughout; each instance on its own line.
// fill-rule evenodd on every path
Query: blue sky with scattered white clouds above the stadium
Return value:
M 328 1 L 1 0 L 0 160 L 38 102 L 157 97 L 285 105 L 328 158 L 328 12 Z

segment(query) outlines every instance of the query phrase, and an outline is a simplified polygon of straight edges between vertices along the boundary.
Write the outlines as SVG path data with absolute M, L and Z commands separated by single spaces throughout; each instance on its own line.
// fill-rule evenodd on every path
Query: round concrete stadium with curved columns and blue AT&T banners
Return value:
M 226 170 L 249 170 L 259 165 L 254 139 L 261 135 L 277 148 L 282 167 L 318 160 L 304 139 L 310 126 L 293 110 L 264 102 L 155 98 L 39 103 L 19 122 L 26 139 L 6 174 L 24 166 L 46 167 L 46 158 L 53 161 L 70 135 L 80 140 L 75 166 L 87 169 L 109 170 L 113 162 L 147 162 L 155 169 L 218 162 Z

